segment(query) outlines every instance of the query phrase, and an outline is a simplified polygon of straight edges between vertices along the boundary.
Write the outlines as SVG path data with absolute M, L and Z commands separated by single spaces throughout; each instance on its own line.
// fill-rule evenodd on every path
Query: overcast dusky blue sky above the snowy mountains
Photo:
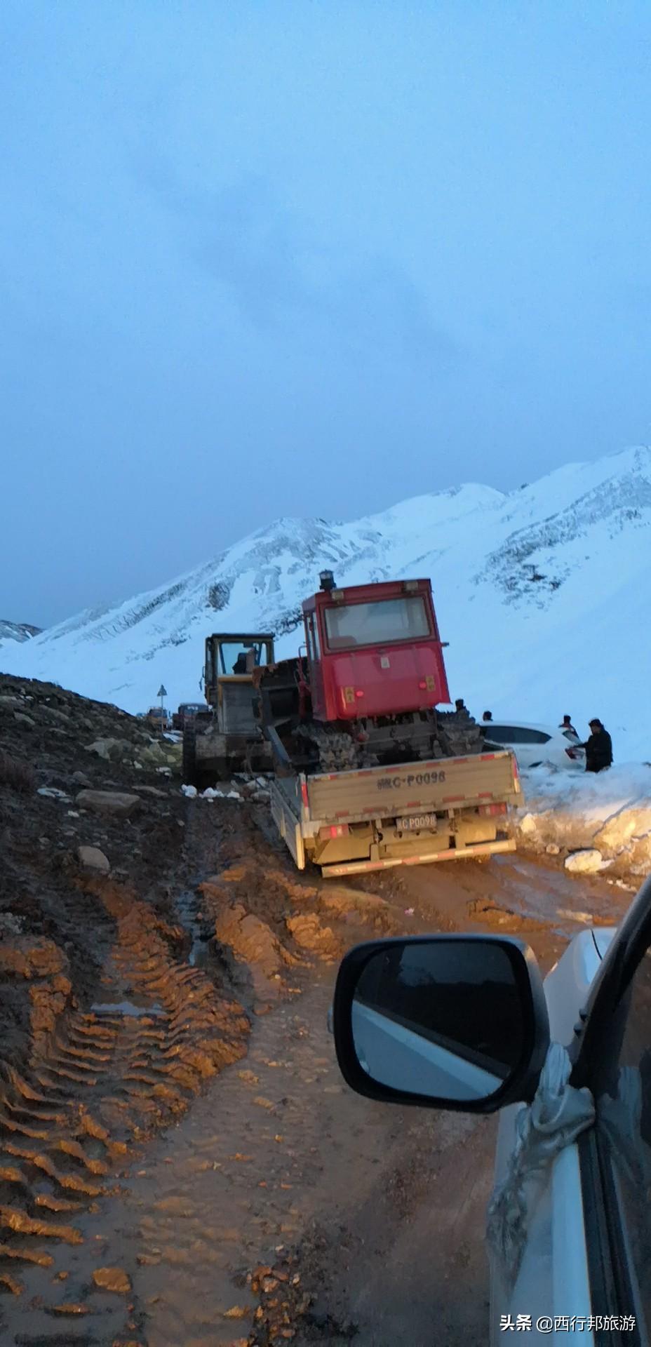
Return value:
M 0 617 L 651 438 L 651 5 L 3 0 Z

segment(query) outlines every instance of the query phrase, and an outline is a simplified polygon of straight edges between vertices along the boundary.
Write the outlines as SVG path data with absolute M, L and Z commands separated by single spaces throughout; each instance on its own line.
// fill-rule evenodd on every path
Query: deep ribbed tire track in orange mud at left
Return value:
M 84 886 L 116 924 L 94 1008 L 57 1006 L 47 1034 L 32 1017 L 23 1070 L 0 1061 L 0 1336 L 16 1347 L 143 1342 L 102 1203 L 137 1141 L 247 1052 L 248 1017 L 177 956 L 182 929 L 127 888 Z M 42 1008 L 53 979 L 30 990 Z

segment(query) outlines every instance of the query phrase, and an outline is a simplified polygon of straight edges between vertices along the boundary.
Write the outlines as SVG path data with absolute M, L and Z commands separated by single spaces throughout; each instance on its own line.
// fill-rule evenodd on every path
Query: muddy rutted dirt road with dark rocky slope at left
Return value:
M 40 766 L 18 793 L 0 780 L 3 1347 L 484 1343 L 495 1125 L 348 1091 L 337 963 L 461 928 L 519 933 L 549 966 L 629 894 L 518 857 L 326 885 L 264 808 L 86 757 L 93 788 L 139 803 L 97 816 L 70 800 L 74 722 L 106 734 L 109 709 L 77 703 L 34 686 L 11 748 L 36 740 Z M 120 735 L 139 752 L 137 723 Z

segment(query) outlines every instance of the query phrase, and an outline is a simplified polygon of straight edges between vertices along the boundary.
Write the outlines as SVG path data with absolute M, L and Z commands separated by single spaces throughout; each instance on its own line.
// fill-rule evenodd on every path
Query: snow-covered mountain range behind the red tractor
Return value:
M 433 581 L 450 691 L 481 715 L 588 735 L 600 715 L 616 760 L 651 758 L 651 449 L 571 463 L 503 494 L 465 485 L 353 523 L 282 519 L 160 589 L 86 610 L 0 651 L 129 711 L 194 699 L 212 630 L 272 630 L 301 644 L 301 601 L 323 567 L 337 583 Z

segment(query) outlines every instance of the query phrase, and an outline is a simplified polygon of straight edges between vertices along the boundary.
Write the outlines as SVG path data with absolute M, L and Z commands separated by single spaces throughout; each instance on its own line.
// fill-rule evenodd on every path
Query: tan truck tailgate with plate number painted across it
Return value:
M 492 800 L 516 804 L 519 792 L 518 768 L 509 752 L 307 777 L 310 819 L 346 822 L 398 818 L 414 810 L 441 812 Z

